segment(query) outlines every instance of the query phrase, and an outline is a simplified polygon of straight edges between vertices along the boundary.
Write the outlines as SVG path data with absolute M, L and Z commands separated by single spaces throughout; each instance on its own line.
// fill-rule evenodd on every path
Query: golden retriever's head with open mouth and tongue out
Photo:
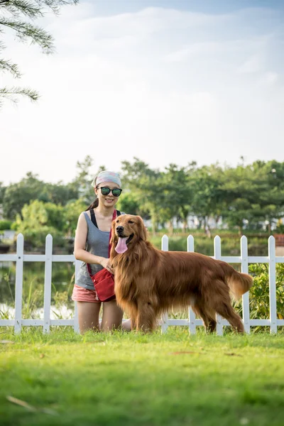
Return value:
M 140 216 L 121 214 L 112 222 L 111 243 L 116 253 L 124 253 L 138 241 L 146 241 L 147 230 Z

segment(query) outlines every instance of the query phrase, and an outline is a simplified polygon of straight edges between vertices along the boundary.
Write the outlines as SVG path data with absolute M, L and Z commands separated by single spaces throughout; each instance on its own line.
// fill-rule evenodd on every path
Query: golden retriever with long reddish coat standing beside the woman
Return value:
M 129 237 L 121 254 L 115 251 L 119 236 Z M 132 329 L 151 331 L 163 312 L 191 306 L 209 332 L 216 329 L 216 313 L 244 332 L 229 291 L 234 297 L 246 293 L 253 281 L 250 275 L 200 253 L 155 249 L 141 217 L 130 214 L 112 224 L 110 258 L 116 301 L 129 313 Z

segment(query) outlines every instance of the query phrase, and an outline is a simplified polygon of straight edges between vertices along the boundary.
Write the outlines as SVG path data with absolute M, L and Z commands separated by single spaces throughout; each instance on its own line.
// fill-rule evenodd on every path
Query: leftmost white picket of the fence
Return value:
M 23 234 L 17 236 L 16 249 L 16 289 L 15 289 L 15 325 L 16 334 L 21 332 L 22 304 L 23 304 Z

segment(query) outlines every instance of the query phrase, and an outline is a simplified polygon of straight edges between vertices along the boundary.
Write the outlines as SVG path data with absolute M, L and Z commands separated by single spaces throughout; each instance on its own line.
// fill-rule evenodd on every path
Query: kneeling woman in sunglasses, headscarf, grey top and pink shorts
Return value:
M 98 300 L 91 273 L 106 268 L 109 264 L 109 232 L 114 216 L 114 206 L 121 195 L 121 180 L 118 173 L 103 171 L 92 182 L 97 199 L 80 214 L 75 235 L 75 258 L 83 261 L 77 274 L 72 300 L 77 301 L 80 332 L 87 329 L 107 331 L 121 326 L 123 311 L 116 305 L 116 300 L 103 303 L 102 324 L 99 324 L 99 311 L 102 302 Z M 122 324 L 130 329 L 130 322 Z

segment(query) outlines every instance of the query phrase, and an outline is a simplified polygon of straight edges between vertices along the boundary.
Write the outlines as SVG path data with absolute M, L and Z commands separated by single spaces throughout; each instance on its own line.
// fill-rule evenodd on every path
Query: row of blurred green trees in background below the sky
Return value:
M 84 210 L 94 200 L 94 191 L 90 185 L 94 177 L 91 175 L 91 167 L 92 158 L 87 155 L 82 162 L 77 162 L 77 176 L 67 185 L 62 182 L 45 183 L 38 180 L 36 175 L 28 173 L 18 183 L 0 186 L 4 217 L 15 219 L 16 214 L 22 214 L 23 206 L 33 200 L 62 207 L 68 204 L 64 219 L 62 212 L 51 206 L 46 207 L 50 210 L 46 214 L 49 217 L 48 226 L 54 226 L 67 236 L 72 236 L 77 224 L 77 213 L 80 214 L 80 210 Z M 101 166 L 99 170 L 103 168 Z M 230 226 L 231 231 L 238 230 L 239 234 L 263 231 L 265 223 L 266 233 L 270 235 L 272 225 L 277 220 L 276 231 L 283 231 L 283 177 L 284 163 L 275 160 L 267 163 L 256 161 L 246 166 L 240 164 L 236 168 L 222 167 L 219 163 L 200 168 L 195 162 L 183 167 L 170 164 L 160 171 L 134 158 L 132 163 L 121 163 L 123 192 L 117 208 L 126 213 L 138 214 L 143 219 L 151 219 L 153 234 L 163 226 L 166 234 L 174 235 L 177 221 L 185 234 L 188 231 L 188 218 L 192 215 L 198 218 L 199 229 L 207 237 L 214 234 L 214 230 L 209 229 L 209 219 L 213 218 L 218 226 L 221 217 L 225 226 Z M 56 217 L 56 214 L 59 216 Z

